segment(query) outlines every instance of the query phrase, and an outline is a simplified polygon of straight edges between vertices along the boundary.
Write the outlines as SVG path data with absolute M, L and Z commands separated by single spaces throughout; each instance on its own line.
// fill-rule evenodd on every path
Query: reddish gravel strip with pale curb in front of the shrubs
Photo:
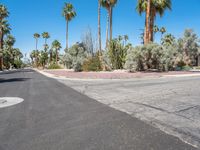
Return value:
M 184 77 L 200 76 L 200 72 L 171 71 L 171 72 L 73 72 L 67 69 L 41 70 L 40 73 L 49 77 L 63 77 L 72 79 L 132 79 L 132 78 L 159 78 L 159 77 Z

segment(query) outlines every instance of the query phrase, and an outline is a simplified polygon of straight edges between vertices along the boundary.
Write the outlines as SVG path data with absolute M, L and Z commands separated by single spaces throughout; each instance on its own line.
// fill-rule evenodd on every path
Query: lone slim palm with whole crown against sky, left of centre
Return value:
M 65 6 L 63 8 L 63 16 L 65 17 L 66 20 L 66 49 L 65 52 L 68 50 L 68 26 L 69 26 L 69 21 L 71 21 L 73 18 L 76 17 L 76 12 L 74 9 L 74 6 L 71 3 L 65 3 Z

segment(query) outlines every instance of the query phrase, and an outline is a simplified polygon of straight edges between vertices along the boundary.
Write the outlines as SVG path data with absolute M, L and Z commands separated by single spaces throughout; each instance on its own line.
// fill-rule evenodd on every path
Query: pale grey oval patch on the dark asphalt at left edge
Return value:
M 13 106 L 23 101 L 24 99 L 19 97 L 0 97 L 0 108 Z

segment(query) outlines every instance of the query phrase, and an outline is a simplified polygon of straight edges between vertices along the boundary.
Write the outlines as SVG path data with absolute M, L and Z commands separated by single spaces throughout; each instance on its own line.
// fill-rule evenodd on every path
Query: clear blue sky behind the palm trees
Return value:
M 1 0 L 10 11 L 9 22 L 12 34 L 16 37 L 15 47 L 24 53 L 35 49 L 33 34 L 47 31 L 51 34 L 51 43 L 57 39 L 65 47 L 66 23 L 62 17 L 64 2 L 73 3 L 77 17 L 69 24 L 69 44 L 81 40 L 88 28 L 93 36 L 97 35 L 97 0 Z M 113 14 L 113 36 L 129 35 L 133 45 L 140 43 L 140 29 L 144 28 L 144 17 L 135 10 L 137 0 L 118 0 Z M 172 11 L 156 18 L 156 24 L 164 26 L 167 32 L 180 37 L 186 28 L 192 28 L 200 35 L 200 0 L 172 0 Z M 106 11 L 102 9 L 102 40 L 105 43 Z M 157 35 L 157 40 L 160 35 Z M 44 40 L 39 41 L 42 49 Z

